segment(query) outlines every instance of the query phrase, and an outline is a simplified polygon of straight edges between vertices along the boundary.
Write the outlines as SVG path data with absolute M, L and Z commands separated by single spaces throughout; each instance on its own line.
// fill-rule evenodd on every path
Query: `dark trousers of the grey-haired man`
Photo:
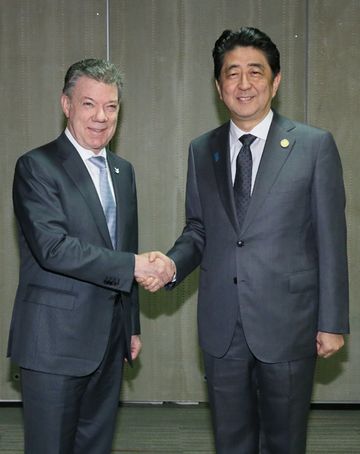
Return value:
M 109 344 L 85 377 L 21 369 L 25 454 L 109 454 L 125 354 L 121 303 L 114 306 Z

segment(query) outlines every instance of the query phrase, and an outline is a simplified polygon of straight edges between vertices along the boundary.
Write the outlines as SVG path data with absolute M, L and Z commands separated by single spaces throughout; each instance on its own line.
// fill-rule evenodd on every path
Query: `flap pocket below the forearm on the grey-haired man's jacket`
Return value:
M 24 300 L 29 303 L 72 311 L 76 297 L 76 293 L 70 291 L 30 284 L 27 287 Z

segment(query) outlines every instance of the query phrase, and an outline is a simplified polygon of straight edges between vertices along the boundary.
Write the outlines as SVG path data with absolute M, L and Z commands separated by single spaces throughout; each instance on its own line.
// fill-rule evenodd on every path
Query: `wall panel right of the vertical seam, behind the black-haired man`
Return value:
M 346 348 L 318 362 L 314 400 L 360 401 L 360 2 L 309 2 L 308 120 L 332 131 L 338 144 L 347 194 L 351 336 Z

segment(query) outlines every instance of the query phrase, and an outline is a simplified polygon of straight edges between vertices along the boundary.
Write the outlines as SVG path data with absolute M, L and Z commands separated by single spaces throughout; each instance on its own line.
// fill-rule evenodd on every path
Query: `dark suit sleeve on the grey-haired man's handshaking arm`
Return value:
M 51 169 L 43 164 L 25 155 L 16 165 L 13 202 L 20 241 L 24 242 L 20 249 L 28 248 L 46 271 L 130 292 L 134 253 L 91 244 L 81 233 L 75 235 L 69 231 L 61 200 L 64 189 L 52 177 Z

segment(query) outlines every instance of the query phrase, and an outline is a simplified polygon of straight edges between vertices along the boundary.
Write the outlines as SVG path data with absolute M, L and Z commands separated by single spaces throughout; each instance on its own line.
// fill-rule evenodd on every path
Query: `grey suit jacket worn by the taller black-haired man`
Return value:
M 205 351 L 225 354 L 239 308 L 250 349 L 265 362 L 314 354 L 317 331 L 348 332 L 344 207 L 341 163 L 329 132 L 274 114 L 241 229 L 229 123 L 191 143 L 186 227 L 168 254 L 177 282 L 200 265 Z

